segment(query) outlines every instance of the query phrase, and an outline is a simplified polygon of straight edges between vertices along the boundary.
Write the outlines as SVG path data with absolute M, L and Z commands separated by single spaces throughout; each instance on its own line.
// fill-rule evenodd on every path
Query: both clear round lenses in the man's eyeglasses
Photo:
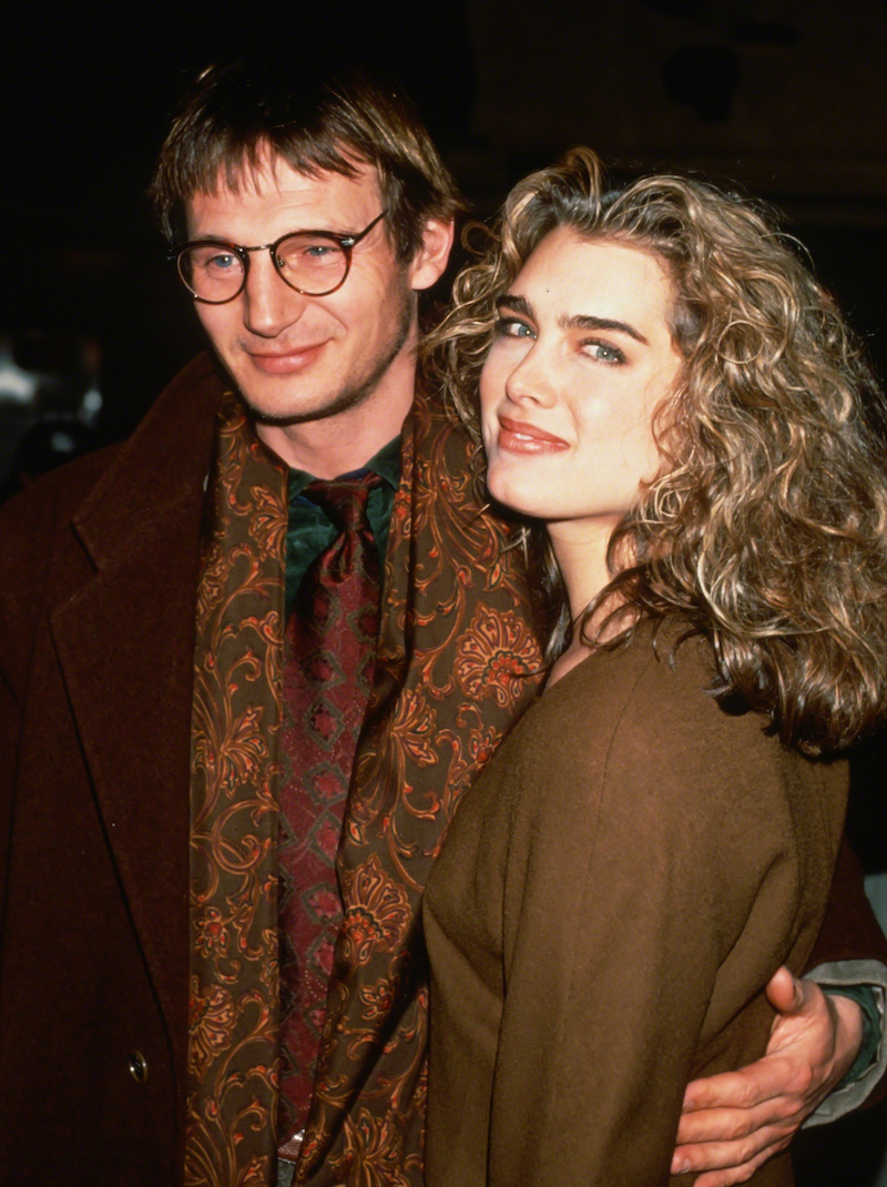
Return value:
M 274 264 L 293 288 L 323 296 L 337 288 L 349 266 L 347 252 L 337 240 L 296 231 L 277 243 Z M 179 256 L 181 279 L 205 301 L 230 300 L 243 285 L 244 262 L 223 243 L 202 243 Z

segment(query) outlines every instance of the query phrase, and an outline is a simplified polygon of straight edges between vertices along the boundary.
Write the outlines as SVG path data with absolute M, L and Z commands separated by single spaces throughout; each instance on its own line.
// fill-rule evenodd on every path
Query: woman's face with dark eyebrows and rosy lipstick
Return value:
M 612 531 L 659 468 L 653 412 L 681 367 L 672 301 L 649 252 L 566 227 L 542 240 L 499 301 L 480 376 L 496 499 Z

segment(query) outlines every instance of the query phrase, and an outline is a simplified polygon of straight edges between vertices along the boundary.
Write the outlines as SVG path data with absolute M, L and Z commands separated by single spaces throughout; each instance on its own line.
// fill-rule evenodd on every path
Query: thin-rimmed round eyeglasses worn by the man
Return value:
M 242 247 L 223 239 L 196 239 L 170 254 L 194 300 L 224 305 L 247 286 L 249 253 L 270 252 L 280 279 L 306 297 L 328 297 L 347 280 L 351 252 L 381 222 L 387 210 L 356 235 L 331 230 L 296 230 L 274 243 Z

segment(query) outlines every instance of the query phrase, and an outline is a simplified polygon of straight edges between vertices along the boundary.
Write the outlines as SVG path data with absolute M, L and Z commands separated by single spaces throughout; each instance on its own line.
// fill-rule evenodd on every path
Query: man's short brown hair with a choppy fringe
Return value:
M 378 172 L 387 226 L 398 259 L 422 245 L 429 217 L 448 221 L 462 199 L 410 100 L 358 69 L 305 70 L 267 57 L 208 66 L 180 104 L 151 186 L 164 234 L 184 240 L 185 205 L 213 193 L 219 179 L 237 192 L 243 173 L 269 152 L 299 173 L 355 177 Z M 299 229 L 299 228 L 294 228 Z

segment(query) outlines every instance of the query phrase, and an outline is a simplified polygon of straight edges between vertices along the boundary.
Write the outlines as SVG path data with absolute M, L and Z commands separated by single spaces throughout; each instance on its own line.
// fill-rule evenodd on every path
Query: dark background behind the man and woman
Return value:
M 480 214 L 577 142 L 628 171 L 690 170 L 768 199 L 887 374 L 883 0 L 430 0 L 406 17 L 37 4 L 18 21 L 0 96 L 0 481 L 37 417 L 74 413 L 94 382 L 96 439 L 119 438 L 200 348 L 145 190 L 184 80 L 238 46 L 275 45 L 294 72 L 349 52 L 400 75 Z M 70 382 L 25 405 L 7 391 L 17 366 Z M 882 770 L 875 749 L 855 808 L 873 870 L 887 868 Z M 809 1138 L 802 1181 L 870 1182 L 886 1129 L 881 1111 Z

